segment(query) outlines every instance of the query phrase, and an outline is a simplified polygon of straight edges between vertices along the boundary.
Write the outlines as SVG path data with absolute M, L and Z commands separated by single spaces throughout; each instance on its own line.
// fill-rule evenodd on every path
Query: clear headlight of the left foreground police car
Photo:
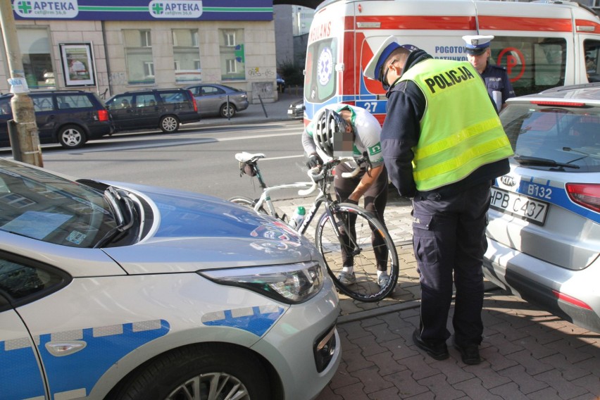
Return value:
M 323 268 L 316 262 L 263 267 L 201 270 L 198 274 L 220 285 L 250 289 L 286 304 L 298 304 L 323 287 Z

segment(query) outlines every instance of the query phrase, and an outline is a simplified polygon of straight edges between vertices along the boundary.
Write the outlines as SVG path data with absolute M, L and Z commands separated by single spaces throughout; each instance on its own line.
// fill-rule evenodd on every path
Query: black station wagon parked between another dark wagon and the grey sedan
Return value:
M 180 124 L 200 120 L 196 100 L 186 89 L 147 89 L 116 94 L 106 101 L 115 129 L 161 128 L 176 132 Z

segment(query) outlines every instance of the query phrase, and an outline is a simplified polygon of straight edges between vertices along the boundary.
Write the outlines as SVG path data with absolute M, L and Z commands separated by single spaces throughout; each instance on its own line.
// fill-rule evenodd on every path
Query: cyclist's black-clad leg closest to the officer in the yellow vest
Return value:
M 385 219 L 383 213 L 385 211 L 385 206 L 387 205 L 387 194 L 387 170 L 384 167 L 375 183 L 373 183 L 364 194 L 365 210 L 374 213 L 384 226 Z M 373 230 L 371 239 L 373 241 L 373 249 L 375 249 L 375 257 L 377 258 L 377 270 L 385 271 L 387 270 L 387 249 L 385 247 L 385 239 L 375 232 L 373 229 L 374 227 L 371 228 Z

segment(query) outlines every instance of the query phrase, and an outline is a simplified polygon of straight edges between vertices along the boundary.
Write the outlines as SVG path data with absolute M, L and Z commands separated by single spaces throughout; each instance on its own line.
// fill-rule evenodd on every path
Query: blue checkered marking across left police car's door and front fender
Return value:
M 52 399 L 87 396 L 108 368 L 138 347 L 166 335 L 169 330 L 166 320 L 150 320 L 35 337 Z M 46 349 L 46 344 L 69 340 L 85 342 L 85 349 L 62 357 L 54 356 Z M 0 365 L 11 365 L 7 373 L 0 374 L 1 399 L 44 399 L 42 378 L 29 338 L 0 342 Z

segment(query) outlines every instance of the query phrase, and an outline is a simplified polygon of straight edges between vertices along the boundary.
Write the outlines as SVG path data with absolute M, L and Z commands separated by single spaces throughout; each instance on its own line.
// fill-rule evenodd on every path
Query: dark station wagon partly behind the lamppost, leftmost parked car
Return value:
M 92 92 L 82 90 L 47 90 L 30 92 L 39 132 L 39 142 L 60 143 L 65 149 L 78 149 L 90 139 L 113 132 L 106 106 Z M 0 146 L 11 146 L 8 120 L 13 119 L 11 98 L 0 96 Z

